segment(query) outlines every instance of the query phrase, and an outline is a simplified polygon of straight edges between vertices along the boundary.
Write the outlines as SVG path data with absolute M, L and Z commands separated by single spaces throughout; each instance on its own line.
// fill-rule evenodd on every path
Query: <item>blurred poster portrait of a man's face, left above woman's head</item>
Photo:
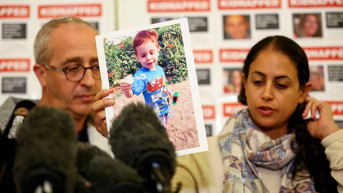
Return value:
M 245 15 L 224 16 L 224 39 L 250 38 L 250 22 Z

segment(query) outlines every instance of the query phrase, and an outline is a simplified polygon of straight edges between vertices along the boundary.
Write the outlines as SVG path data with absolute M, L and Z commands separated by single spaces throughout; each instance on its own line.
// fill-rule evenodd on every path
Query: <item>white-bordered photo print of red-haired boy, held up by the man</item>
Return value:
M 154 109 L 177 156 L 208 150 L 187 18 L 95 39 L 102 86 L 115 99 L 105 108 L 108 129 L 125 106 L 143 103 Z

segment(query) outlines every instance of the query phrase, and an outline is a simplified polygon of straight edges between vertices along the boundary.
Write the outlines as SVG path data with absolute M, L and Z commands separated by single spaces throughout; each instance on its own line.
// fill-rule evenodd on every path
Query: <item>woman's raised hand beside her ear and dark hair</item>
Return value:
M 306 117 L 308 112 L 311 111 L 311 117 L 307 124 L 307 131 L 312 137 L 322 140 L 328 135 L 341 130 L 333 120 L 330 104 L 320 102 L 309 96 L 306 97 L 305 102 L 307 104 L 302 117 Z M 315 118 L 316 110 L 318 110 L 320 114 L 319 119 Z

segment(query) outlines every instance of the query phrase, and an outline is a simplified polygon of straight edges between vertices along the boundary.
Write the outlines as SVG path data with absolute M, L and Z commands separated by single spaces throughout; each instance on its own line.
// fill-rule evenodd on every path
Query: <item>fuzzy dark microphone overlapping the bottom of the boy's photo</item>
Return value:
M 171 192 L 176 154 L 151 106 L 131 103 L 113 120 L 109 144 L 116 158 L 138 170 L 149 192 Z

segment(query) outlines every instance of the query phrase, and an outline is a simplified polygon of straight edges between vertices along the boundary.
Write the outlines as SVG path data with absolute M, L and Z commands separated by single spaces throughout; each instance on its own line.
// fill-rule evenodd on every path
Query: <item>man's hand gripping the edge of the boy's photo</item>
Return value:
M 100 90 L 94 96 L 95 102 L 91 105 L 91 110 L 95 122 L 95 128 L 104 137 L 108 137 L 105 107 L 114 105 L 115 103 L 115 100 L 112 98 L 104 99 L 104 97 L 108 96 L 109 94 L 109 89 Z

